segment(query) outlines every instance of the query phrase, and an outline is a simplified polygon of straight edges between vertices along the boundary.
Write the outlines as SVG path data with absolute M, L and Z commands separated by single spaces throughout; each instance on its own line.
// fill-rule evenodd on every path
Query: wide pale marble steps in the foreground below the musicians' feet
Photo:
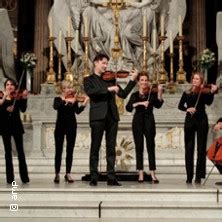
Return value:
M 82 181 L 74 184 L 61 181 L 55 185 L 52 181 L 35 179 L 28 185 L 18 183 L 16 201 L 11 199 L 12 187 L 1 182 L 0 216 L 69 217 L 75 218 L 70 219 L 74 221 L 85 218 L 87 222 L 90 221 L 87 218 L 113 218 L 113 221 L 129 218 L 137 222 L 143 218 L 169 221 L 190 218 L 189 222 L 221 219 L 222 190 L 214 182 L 200 186 L 163 179 L 160 184 L 123 182 L 122 187 L 99 182 L 94 188 Z M 13 203 L 18 204 L 18 211 L 9 210 Z

